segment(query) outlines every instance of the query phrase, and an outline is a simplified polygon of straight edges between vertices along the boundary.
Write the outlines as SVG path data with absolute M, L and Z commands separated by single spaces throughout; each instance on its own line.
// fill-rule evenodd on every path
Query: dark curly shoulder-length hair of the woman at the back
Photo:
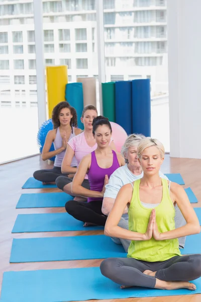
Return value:
M 60 121 L 59 121 L 59 114 L 63 108 L 68 108 L 70 110 L 70 114 L 72 114 L 72 118 L 70 120 L 70 126 L 72 127 L 77 127 L 77 112 L 75 108 L 71 107 L 68 102 L 60 102 L 57 104 L 54 109 L 52 110 L 52 123 L 53 123 L 53 128 L 57 129 L 60 126 Z M 73 130 L 72 130 L 73 132 Z

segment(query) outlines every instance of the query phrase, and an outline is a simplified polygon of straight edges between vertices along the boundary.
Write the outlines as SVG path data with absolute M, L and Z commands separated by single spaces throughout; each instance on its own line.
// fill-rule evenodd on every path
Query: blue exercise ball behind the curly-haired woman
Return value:
M 44 146 L 44 143 L 45 143 L 45 138 L 46 138 L 47 133 L 48 133 L 49 130 L 53 130 L 53 124 L 52 124 L 52 120 L 51 119 L 45 121 L 41 125 L 40 129 L 38 130 L 37 144 L 39 146 L 40 153 L 42 153 L 43 146 Z M 51 151 L 54 151 L 54 144 L 53 143 L 52 143 L 52 145 L 50 147 L 50 152 Z M 52 162 L 54 162 L 54 160 L 55 160 L 55 156 L 50 159 L 50 161 L 52 161 Z

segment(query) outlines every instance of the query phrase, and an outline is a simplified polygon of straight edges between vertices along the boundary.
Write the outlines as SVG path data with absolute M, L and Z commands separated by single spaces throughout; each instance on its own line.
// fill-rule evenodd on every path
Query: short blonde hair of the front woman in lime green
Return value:
M 156 138 L 151 138 L 151 137 L 145 137 L 139 143 L 138 148 L 137 148 L 138 158 L 141 159 L 141 156 L 142 156 L 142 153 L 143 153 L 144 149 L 152 147 L 152 146 L 157 147 L 157 149 L 159 149 L 159 151 L 160 151 L 161 158 L 164 158 L 165 149 L 164 149 L 164 146 L 163 146 L 162 142 L 160 142 Z

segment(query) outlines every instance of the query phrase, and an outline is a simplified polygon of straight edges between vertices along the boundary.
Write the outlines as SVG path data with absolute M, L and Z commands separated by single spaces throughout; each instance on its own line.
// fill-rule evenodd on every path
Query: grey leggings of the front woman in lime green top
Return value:
M 143 274 L 156 271 L 155 277 Z M 156 278 L 163 281 L 191 281 L 201 276 L 201 255 L 175 256 L 166 261 L 147 262 L 134 258 L 108 258 L 100 264 L 102 274 L 128 286 L 154 288 Z

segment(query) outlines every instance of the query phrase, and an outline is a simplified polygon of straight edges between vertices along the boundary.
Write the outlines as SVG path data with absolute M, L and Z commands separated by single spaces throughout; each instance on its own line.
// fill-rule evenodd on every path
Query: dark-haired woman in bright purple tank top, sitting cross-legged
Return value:
M 112 127 L 108 118 L 97 116 L 92 126 L 97 148 L 83 157 L 72 182 L 72 193 L 87 197 L 87 202 L 70 200 L 65 204 L 66 211 L 83 221 L 84 226 L 105 225 L 107 216 L 102 213 L 105 185 L 113 172 L 125 165 L 122 155 L 109 146 Z M 85 174 L 88 175 L 90 190 L 81 185 Z

